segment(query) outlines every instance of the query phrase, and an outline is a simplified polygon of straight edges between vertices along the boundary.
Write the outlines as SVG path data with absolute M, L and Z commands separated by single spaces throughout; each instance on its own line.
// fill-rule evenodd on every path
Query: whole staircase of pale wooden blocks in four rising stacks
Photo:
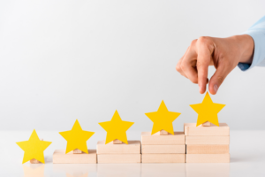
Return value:
M 141 133 L 140 141 L 128 144 L 97 142 L 97 150 L 86 153 L 65 154 L 56 150 L 54 164 L 108 164 L 108 163 L 229 163 L 230 128 L 225 123 L 219 127 L 196 127 L 186 123 L 183 132 L 174 135 Z

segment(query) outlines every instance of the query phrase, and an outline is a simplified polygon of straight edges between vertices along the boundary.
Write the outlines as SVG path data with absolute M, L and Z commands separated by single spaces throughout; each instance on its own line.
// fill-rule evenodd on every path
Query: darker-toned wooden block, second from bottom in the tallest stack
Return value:
M 228 144 L 186 145 L 187 154 L 229 154 Z

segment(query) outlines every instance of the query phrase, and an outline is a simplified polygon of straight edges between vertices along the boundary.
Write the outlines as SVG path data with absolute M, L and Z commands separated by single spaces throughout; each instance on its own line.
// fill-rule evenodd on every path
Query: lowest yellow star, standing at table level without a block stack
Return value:
M 24 158 L 22 164 L 33 158 L 39 160 L 43 164 L 45 163 L 43 151 L 48 148 L 51 142 L 41 141 L 35 130 L 30 135 L 28 141 L 16 143 L 22 150 L 24 150 Z

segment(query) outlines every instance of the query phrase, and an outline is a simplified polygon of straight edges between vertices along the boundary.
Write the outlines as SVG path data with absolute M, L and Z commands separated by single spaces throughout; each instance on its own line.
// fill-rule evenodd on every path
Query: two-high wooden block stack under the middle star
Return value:
M 128 144 L 118 140 L 107 144 L 100 141 L 96 149 L 99 164 L 140 163 L 140 141 L 128 141 Z

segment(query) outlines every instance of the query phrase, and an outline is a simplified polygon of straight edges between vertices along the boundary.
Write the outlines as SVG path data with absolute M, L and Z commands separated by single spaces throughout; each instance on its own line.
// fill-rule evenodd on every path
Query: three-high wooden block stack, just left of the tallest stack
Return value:
M 186 145 L 183 132 L 141 133 L 142 163 L 185 163 Z

